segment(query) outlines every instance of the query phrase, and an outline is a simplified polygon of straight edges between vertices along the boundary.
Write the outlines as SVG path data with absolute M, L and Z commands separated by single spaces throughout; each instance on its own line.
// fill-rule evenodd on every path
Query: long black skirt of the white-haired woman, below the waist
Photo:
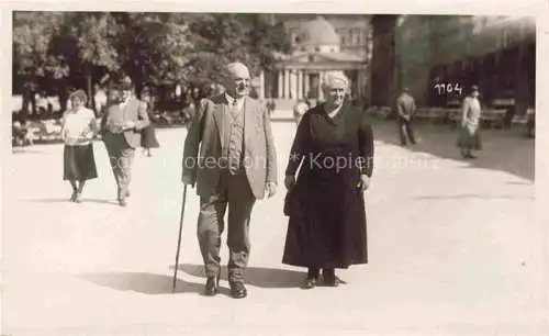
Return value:
M 347 268 L 368 262 L 365 199 L 357 181 L 355 173 L 300 176 L 284 204 L 290 220 L 283 264 Z

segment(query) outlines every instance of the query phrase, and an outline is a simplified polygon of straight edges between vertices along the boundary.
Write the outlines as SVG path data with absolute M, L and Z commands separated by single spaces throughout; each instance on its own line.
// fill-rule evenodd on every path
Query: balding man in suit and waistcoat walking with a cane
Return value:
M 247 295 L 244 270 L 250 249 L 249 221 L 257 199 L 277 188 L 277 154 L 269 114 L 248 97 L 250 76 L 242 63 L 226 67 L 226 91 L 205 98 L 187 134 L 182 181 L 200 195 L 198 238 L 208 277 L 204 294 L 220 281 L 221 235 L 228 205 L 227 245 L 231 295 Z M 200 148 L 199 148 L 200 146 Z

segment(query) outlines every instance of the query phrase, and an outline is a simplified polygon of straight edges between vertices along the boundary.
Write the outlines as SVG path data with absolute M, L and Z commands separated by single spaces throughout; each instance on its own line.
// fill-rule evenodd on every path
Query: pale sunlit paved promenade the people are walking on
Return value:
M 273 123 L 280 184 L 294 128 Z M 534 142 L 490 131 L 481 158 L 466 163 L 448 127 L 419 126 L 422 142 L 411 148 L 395 145 L 395 131 L 392 123 L 374 127 L 370 264 L 340 271 L 348 283 L 338 289 L 300 290 L 303 270 L 280 262 L 287 217 L 279 187 L 254 210 L 245 300 L 228 296 L 225 270 L 223 293 L 200 295 L 193 189 L 171 293 L 186 130 L 159 130 L 154 157 L 137 153 L 126 208 L 115 203 L 100 142 L 100 178 L 81 204 L 67 201 L 61 145 L 12 154 L 4 166 L 2 334 L 547 335 Z M 222 257 L 226 262 L 226 246 Z

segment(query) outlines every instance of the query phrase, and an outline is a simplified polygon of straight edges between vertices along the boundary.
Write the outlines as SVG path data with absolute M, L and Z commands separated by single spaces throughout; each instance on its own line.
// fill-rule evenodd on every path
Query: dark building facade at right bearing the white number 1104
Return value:
M 534 105 L 535 19 L 405 15 L 395 25 L 394 85 L 422 104 L 448 104 L 477 85 L 486 105 L 507 100 L 519 113 Z

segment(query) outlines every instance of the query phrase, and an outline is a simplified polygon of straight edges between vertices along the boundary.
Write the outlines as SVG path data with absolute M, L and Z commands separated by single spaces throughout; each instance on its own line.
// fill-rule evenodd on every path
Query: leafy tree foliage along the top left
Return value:
M 94 77 L 98 69 L 141 83 L 175 85 L 221 79 L 227 61 L 253 74 L 289 52 L 282 25 L 262 14 L 143 12 L 15 12 L 14 72 L 38 77 Z

